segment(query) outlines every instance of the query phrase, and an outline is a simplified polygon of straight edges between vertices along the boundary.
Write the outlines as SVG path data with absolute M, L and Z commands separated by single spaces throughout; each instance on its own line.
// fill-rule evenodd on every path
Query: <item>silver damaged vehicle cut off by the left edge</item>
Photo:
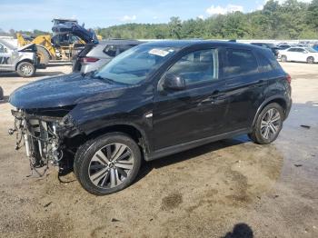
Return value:
M 35 44 L 17 48 L 0 39 L 0 72 L 16 72 L 22 77 L 31 77 L 40 67 L 39 62 Z

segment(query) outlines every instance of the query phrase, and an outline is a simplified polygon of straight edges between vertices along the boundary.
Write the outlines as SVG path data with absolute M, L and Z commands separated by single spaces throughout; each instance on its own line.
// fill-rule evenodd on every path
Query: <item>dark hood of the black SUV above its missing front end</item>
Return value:
M 9 102 L 20 109 L 53 108 L 117 98 L 127 87 L 82 74 L 67 74 L 19 87 L 10 95 Z

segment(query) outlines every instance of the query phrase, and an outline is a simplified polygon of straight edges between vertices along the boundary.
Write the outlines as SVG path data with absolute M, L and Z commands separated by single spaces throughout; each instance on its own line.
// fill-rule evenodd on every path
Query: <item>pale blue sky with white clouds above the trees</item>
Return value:
M 186 20 L 233 11 L 251 12 L 261 9 L 264 3 L 265 0 L 1 0 L 0 28 L 51 31 L 55 17 L 76 18 L 86 28 L 167 23 L 171 16 Z

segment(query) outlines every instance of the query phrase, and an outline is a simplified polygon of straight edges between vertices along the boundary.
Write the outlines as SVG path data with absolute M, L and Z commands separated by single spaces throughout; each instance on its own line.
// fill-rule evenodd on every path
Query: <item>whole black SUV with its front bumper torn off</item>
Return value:
M 134 181 L 151 161 L 249 134 L 272 143 L 289 114 L 291 78 L 268 50 L 210 41 L 138 45 L 92 74 L 15 90 L 15 129 L 32 169 L 73 168 L 89 193 Z

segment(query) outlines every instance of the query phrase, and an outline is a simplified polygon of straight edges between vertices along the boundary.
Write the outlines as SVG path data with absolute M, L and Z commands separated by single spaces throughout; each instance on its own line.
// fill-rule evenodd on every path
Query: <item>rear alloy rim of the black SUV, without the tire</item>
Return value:
M 279 133 L 281 120 L 281 114 L 275 108 L 269 109 L 263 115 L 263 119 L 261 121 L 261 134 L 264 139 L 272 139 Z

